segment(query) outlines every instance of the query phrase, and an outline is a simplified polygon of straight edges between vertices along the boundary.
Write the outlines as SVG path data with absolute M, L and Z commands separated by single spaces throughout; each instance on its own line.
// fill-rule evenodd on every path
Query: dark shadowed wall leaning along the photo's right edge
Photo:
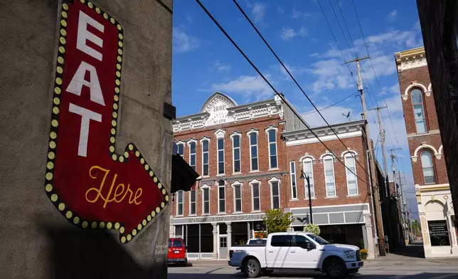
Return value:
M 458 4 L 417 0 L 458 234 Z M 456 246 L 458 243 L 454 243 Z

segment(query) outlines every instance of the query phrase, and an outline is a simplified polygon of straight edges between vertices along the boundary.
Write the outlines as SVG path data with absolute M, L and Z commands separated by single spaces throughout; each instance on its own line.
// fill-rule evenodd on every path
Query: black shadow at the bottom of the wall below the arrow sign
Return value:
M 97 230 L 47 227 L 55 279 L 165 278 L 154 268 L 137 265 L 117 234 Z M 162 268 L 159 268 L 162 269 Z

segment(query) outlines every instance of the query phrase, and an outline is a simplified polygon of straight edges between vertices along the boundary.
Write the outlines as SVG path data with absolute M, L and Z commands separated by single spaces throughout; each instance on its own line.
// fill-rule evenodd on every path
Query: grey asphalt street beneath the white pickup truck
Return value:
M 229 279 L 245 278 L 235 268 L 221 266 L 170 267 L 169 279 Z M 275 272 L 263 278 L 326 278 L 322 273 Z M 361 268 L 360 273 L 349 278 L 391 279 L 458 279 L 458 265 L 371 265 Z

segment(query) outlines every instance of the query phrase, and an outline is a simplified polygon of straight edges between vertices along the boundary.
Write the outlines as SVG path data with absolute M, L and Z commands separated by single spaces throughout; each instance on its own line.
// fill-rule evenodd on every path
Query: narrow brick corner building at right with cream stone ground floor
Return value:
M 424 48 L 395 53 L 425 257 L 458 256 L 447 167 Z

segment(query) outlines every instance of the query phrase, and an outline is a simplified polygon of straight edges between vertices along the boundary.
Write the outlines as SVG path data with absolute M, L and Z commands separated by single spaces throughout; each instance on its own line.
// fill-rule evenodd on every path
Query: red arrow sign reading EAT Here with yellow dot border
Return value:
M 80 228 L 131 241 L 169 201 L 134 144 L 115 153 L 122 26 L 85 0 L 63 2 L 45 189 Z

